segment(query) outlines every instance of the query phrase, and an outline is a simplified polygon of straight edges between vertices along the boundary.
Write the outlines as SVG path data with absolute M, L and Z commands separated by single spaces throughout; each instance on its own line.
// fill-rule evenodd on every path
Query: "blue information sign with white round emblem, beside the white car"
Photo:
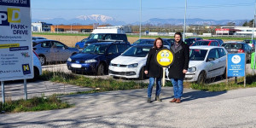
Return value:
M 245 76 L 245 54 L 228 54 L 228 77 Z

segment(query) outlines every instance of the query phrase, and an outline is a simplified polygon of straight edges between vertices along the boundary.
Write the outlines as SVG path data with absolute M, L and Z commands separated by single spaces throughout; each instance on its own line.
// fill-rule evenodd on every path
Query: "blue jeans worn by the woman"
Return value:
M 154 86 L 154 79 L 156 79 L 155 96 L 160 96 L 160 91 L 161 91 L 161 78 L 149 78 L 149 84 L 148 84 L 148 98 L 151 98 L 152 89 L 153 89 L 153 86 Z

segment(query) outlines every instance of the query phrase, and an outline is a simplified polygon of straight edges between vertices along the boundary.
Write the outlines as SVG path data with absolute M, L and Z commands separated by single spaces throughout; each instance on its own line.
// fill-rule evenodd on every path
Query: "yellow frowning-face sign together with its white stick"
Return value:
M 172 65 L 174 60 L 174 54 L 171 49 L 160 49 L 156 52 L 155 61 L 160 67 L 163 67 L 163 86 L 166 84 L 166 67 Z

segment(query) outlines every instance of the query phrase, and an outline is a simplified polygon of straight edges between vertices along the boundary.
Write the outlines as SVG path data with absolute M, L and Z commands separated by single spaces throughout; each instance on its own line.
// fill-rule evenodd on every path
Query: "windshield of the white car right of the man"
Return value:
M 189 61 L 204 61 L 207 49 L 189 49 Z

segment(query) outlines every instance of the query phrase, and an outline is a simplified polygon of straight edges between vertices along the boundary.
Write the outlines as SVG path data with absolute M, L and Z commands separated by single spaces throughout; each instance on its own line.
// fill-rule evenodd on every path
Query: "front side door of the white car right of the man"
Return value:
M 218 74 L 218 49 L 211 49 L 207 55 L 207 76 L 215 77 Z

